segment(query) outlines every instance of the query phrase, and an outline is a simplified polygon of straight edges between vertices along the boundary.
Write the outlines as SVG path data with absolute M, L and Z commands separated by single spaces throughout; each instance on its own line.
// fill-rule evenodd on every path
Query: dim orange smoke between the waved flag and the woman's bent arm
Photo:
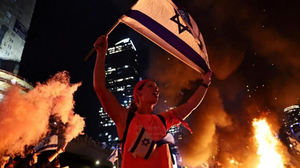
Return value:
M 159 92 L 162 95 L 159 101 L 164 99 L 174 106 L 183 97 L 180 91 L 190 89 L 190 82 L 200 79 L 201 74 L 176 57 L 162 52 L 162 49 L 156 48 L 152 51 L 148 70 L 149 78 L 157 82 L 159 86 Z M 159 102 L 159 104 L 161 103 Z M 164 111 L 165 109 L 161 108 L 161 110 Z

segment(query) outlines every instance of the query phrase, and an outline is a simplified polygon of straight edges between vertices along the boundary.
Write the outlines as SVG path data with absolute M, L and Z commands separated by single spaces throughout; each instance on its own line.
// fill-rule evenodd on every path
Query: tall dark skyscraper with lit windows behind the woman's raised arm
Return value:
M 130 38 L 123 39 L 107 49 L 105 59 L 106 87 L 124 107 L 128 107 L 133 100 L 133 89 L 140 80 L 137 57 L 135 46 Z M 102 107 L 99 108 L 99 115 L 99 139 L 114 145 L 118 140 L 115 123 Z

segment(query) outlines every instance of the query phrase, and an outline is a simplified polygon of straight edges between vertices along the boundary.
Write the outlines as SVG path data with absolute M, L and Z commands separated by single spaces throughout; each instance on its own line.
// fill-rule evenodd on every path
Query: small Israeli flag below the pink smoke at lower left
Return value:
M 46 137 L 41 143 L 35 146 L 33 149 L 35 152 L 40 153 L 47 150 L 56 150 L 57 149 L 58 136 L 51 135 Z

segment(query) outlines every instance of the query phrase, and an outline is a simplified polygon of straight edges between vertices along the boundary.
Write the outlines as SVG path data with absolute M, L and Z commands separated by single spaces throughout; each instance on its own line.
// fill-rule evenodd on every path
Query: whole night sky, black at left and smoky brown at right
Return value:
M 134 3 L 37 0 L 35 5 L 18 75 L 35 83 L 66 70 L 70 72 L 71 83 L 82 81 L 75 92 L 74 111 L 86 117 L 85 133 L 94 138 L 98 134 L 100 106 L 92 83 L 95 53 L 88 61 L 83 59 L 97 37 L 105 34 Z M 300 13 L 295 1 L 178 3 L 198 23 L 214 71 L 211 87 L 217 88 L 220 104 L 234 126 L 269 111 L 275 113 L 271 118 L 278 121 L 284 117 L 283 108 L 298 104 Z M 177 88 L 173 97 L 162 95 L 170 106 L 185 102 L 201 83 L 201 75 L 124 24 L 109 35 L 109 46 L 128 37 L 144 67 L 142 77 L 152 78 L 159 86 L 173 83 L 171 88 Z M 165 77 L 165 72 L 170 75 Z M 160 89 L 171 94 L 168 88 L 165 92 L 163 87 Z M 175 101 L 180 90 L 184 95 L 179 94 Z M 193 126 L 192 119 L 190 122 Z

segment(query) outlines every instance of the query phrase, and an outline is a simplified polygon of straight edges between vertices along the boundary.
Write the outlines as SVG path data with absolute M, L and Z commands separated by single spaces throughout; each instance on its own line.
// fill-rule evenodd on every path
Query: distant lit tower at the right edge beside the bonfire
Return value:
M 287 131 L 300 139 L 300 107 L 298 105 L 289 106 L 284 109 L 287 121 L 284 122 Z

